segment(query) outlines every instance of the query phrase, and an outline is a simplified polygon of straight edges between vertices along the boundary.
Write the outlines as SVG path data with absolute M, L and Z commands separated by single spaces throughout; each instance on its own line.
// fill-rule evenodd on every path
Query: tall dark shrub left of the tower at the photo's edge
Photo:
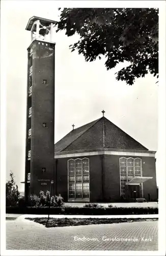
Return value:
M 18 186 L 14 181 L 13 172 L 10 171 L 10 181 L 6 182 L 6 205 L 16 206 L 18 204 L 20 193 L 18 191 Z

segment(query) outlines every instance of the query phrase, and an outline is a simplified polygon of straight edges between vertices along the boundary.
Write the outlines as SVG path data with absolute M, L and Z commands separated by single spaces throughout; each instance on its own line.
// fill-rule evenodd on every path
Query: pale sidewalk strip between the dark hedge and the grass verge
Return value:
M 30 215 L 30 214 L 6 214 L 6 218 L 17 218 L 17 219 L 25 219 L 25 218 L 47 218 L 48 215 Z M 107 218 L 107 219 L 155 219 L 158 218 L 158 214 L 147 214 L 147 215 L 49 215 L 49 218 L 77 218 L 77 219 L 87 219 L 87 218 Z

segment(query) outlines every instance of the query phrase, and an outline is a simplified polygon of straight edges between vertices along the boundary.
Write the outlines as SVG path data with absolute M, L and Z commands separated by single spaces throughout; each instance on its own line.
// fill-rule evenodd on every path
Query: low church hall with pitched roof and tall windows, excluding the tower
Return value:
M 155 152 L 102 113 L 55 144 L 56 194 L 66 202 L 156 200 Z

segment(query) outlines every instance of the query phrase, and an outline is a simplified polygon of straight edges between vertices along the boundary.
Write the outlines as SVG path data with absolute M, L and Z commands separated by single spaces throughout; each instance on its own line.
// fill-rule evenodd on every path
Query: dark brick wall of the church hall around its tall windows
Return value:
M 123 156 L 103 155 L 86 156 L 90 163 L 90 202 L 117 202 L 120 200 L 120 165 L 119 159 Z M 128 156 L 130 157 L 130 156 Z M 128 158 L 127 157 L 127 158 Z M 131 156 L 132 157 L 132 156 Z M 80 159 L 84 157 L 79 157 Z M 136 157 L 133 157 L 136 158 Z M 67 161 L 71 158 L 58 159 L 57 164 L 57 194 L 60 193 L 65 201 L 68 200 L 68 170 Z M 76 159 L 73 158 L 72 159 Z M 142 157 L 143 176 L 153 177 L 143 185 L 144 198 L 151 199 L 157 196 L 155 158 Z M 103 161 L 103 166 L 102 166 Z M 103 168 L 103 169 L 102 169 Z M 103 172 L 103 177 L 102 177 Z M 103 188 L 102 188 L 103 180 Z

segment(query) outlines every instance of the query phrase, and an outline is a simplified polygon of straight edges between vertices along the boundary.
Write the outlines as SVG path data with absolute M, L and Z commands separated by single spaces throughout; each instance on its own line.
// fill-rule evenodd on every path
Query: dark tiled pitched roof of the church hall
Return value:
M 103 147 L 118 150 L 148 150 L 107 118 L 101 117 L 68 133 L 55 144 L 55 153 Z

